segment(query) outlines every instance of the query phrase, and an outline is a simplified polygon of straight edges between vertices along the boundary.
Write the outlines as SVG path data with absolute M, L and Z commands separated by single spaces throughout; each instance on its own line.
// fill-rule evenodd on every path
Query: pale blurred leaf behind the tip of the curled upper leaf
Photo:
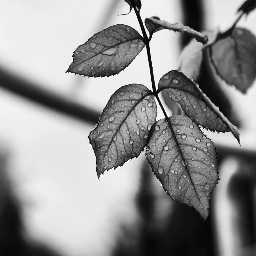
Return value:
M 203 31 L 203 35 L 209 37 L 208 44 L 212 44 L 218 34 L 218 30 Z M 207 46 L 206 46 L 207 47 Z M 196 81 L 200 75 L 201 63 L 203 60 L 203 44 L 198 44 L 196 39 L 192 39 L 189 44 L 183 48 L 180 54 L 179 70 L 186 76 Z

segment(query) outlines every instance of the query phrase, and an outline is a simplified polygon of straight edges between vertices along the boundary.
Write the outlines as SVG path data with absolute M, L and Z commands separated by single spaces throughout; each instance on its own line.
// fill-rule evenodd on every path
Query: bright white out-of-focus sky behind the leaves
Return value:
M 108 3 L 4 1 L 0 9 L 0 65 L 99 111 L 120 86 L 138 83 L 151 88 L 146 50 L 114 77 L 94 79 L 65 73 L 76 47 L 101 29 L 122 23 L 140 32 L 134 13 L 117 16 L 129 9 L 121 0 L 112 16 L 103 22 Z M 238 0 L 205 0 L 208 27 L 221 24 L 221 28 L 228 28 L 239 5 Z M 153 15 L 172 22 L 182 21 L 179 0 L 158 0 L 157 4 L 142 0 L 142 18 Z M 255 21 L 253 13 L 246 23 L 254 34 Z M 156 81 L 178 67 L 178 42 L 179 35 L 174 32 L 160 31 L 154 36 L 151 49 Z M 255 115 L 247 109 L 255 106 L 256 86 L 247 96 L 233 88 L 227 90 L 233 95 L 241 118 L 249 122 L 244 128 L 252 131 L 250 140 L 255 141 Z M 133 198 L 144 153 L 138 161 L 132 160 L 123 168 L 106 173 L 99 182 L 96 159 L 87 140 L 93 125 L 62 116 L 2 89 L 0 116 L 1 141 L 11 152 L 10 175 L 22 203 L 27 235 L 45 241 L 63 255 L 108 255 L 119 232 L 118 224 L 136 218 Z M 209 136 L 215 138 L 216 134 Z M 248 139 L 245 136 L 241 140 L 243 143 Z

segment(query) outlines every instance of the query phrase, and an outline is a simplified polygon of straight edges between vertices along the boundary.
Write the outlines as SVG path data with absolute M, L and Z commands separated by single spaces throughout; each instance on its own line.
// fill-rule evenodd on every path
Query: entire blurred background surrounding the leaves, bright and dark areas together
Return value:
M 143 20 L 157 15 L 197 30 L 227 29 L 242 4 L 141 2 Z M 210 81 L 214 74 L 209 71 L 199 78 L 202 90 L 239 126 L 242 146 L 232 134 L 204 130 L 217 147 L 221 179 L 206 221 L 194 209 L 172 202 L 145 161 L 145 152 L 98 180 L 87 137 L 120 86 L 151 88 L 146 50 L 114 77 L 65 72 L 76 47 L 103 28 L 127 24 L 141 33 L 133 12 L 118 16 L 128 11 L 122 0 L 2 1 L 1 255 L 256 255 L 255 84 L 243 95 Z M 256 34 L 255 24 L 254 12 L 239 23 Z M 179 67 L 188 40 L 168 30 L 153 36 L 156 81 Z M 163 118 L 161 111 L 157 118 Z

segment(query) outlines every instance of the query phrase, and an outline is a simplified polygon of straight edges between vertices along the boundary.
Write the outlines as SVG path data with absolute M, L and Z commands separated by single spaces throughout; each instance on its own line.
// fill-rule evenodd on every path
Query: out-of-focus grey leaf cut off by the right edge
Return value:
M 256 38 L 244 28 L 209 46 L 212 64 L 226 83 L 245 93 L 256 77 Z

